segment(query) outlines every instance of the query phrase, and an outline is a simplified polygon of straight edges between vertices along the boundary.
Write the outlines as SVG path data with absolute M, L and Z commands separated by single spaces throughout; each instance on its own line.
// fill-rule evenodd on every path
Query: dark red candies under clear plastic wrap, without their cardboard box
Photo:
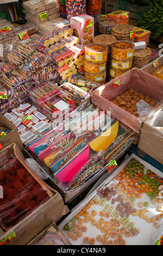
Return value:
M 1 226 L 8 230 L 49 198 L 48 190 L 36 181 L 15 155 L 7 154 L 1 165 Z M 25 165 L 26 166 L 26 165 Z

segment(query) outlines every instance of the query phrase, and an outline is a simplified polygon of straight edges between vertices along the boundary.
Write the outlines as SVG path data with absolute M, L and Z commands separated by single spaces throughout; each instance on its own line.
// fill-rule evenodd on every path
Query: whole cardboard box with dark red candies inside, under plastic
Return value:
M 1 245 L 26 245 L 65 214 L 60 194 L 32 172 L 16 144 L 1 151 L 1 185 L 4 192 L 0 202 L 0 225 L 4 230 L 0 235 Z M 9 241 L 7 234 L 11 232 Z

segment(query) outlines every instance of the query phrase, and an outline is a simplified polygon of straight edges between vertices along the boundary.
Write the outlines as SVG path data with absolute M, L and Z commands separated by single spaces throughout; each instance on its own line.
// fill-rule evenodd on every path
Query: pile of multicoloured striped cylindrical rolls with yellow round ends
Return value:
M 84 70 L 85 49 L 79 44 L 79 38 L 72 35 L 71 28 L 60 28 L 57 25 L 53 28 L 52 33 L 37 39 L 36 48 L 53 58 L 59 83 L 62 80 L 70 82 L 71 78 Z

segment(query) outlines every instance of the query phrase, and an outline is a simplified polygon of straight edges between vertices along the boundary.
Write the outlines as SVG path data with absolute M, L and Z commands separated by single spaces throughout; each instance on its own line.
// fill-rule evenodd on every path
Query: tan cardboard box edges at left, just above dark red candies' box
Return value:
M 0 138 L 0 143 L 1 143 L 0 145 L 2 146 L 2 148 L 7 147 L 11 143 L 16 143 L 16 145 L 21 150 L 21 152 L 23 152 L 24 147 L 23 147 L 21 138 L 18 134 L 16 126 L 12 124 L 7 118 L 5 118 L 1 113 L 0 113 L 0 123 L 2 123 L 4 126 L 6 126 L 11 130 L 9 133 L 7 133 L 7 135 Z

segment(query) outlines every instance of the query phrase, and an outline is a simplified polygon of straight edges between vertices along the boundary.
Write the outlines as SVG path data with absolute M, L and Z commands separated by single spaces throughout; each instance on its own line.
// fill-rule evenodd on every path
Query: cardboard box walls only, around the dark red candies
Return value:
M 1 166 L 3 166 L 5 160 L 7 160 L 6 156 L 10 154 L 14 154 L 17 157 L 30 175 L 46 190 L 49 196 L 46 202 L 35 208 L 35 210 L 24 217 L 23 220 L 11 228 L 8 228 L 8 230 L 4 231 L 4 234 L 0 235 L 0 245 L 1 243 L 7 243 L 8 245 L 27 245 L 29 241 L 34 239 L 34 237 L 48 225 L 60 220 L 60 218 L 66 214 L 66 208 L 58 191 L 49 187 L 29 169 L 15 143 L 12 143 L 1 151 Z

